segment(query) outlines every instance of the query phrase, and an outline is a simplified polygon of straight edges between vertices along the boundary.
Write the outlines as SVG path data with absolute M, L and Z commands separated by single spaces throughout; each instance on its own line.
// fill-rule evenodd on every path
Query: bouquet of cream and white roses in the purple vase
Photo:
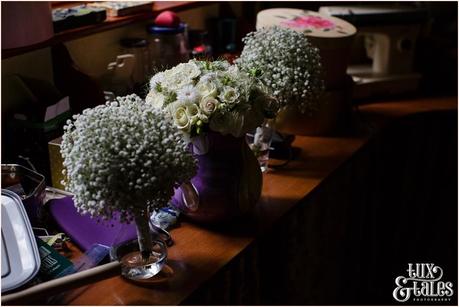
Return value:
M 190 60 L 157 73 L 145 100 L 163 110 L 186 141 L 209 130 L 241 137 L 278 111 L 257 78 L 226 61 Z

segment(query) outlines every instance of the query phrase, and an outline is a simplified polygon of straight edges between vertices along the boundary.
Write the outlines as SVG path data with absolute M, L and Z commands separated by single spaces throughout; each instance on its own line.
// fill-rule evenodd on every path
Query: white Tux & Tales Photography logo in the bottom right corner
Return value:
M 453 283 L 442 281 L 443 269 L 434 263 L 408 263 L 408 276 L 395 278 L 392 296 L 398 302 L 428 301 L 447 303 L 454 294 Z

